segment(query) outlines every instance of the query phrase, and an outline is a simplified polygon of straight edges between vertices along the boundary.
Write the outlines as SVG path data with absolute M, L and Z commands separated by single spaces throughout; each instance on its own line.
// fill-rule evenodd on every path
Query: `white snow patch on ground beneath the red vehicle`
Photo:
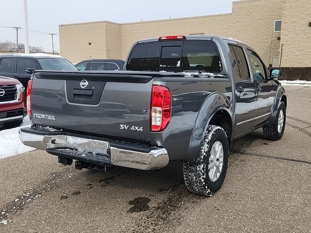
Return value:
M 29 124 L 29 117 L 26 116 L 19 127 L 13 129 L 0 129 L 0 159 L 35 150 L 34 148 L 22 144 L 18 137 L 18 129 L 27 127 Z

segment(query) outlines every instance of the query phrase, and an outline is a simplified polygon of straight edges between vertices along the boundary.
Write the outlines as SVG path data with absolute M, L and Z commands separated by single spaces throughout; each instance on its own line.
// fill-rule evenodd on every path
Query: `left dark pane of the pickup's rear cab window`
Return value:
M 127 70 L 158 71 L 160 43 L 141 44 L 134 47 L 128 60 Z

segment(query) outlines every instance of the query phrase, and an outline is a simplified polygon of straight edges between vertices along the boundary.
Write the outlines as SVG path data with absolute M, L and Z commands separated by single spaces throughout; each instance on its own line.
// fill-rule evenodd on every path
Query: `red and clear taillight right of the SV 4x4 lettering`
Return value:
M 168 88 L 152 86 L 150 111 L 151 131 L 164 130 L 171 120 L 171 92 Z

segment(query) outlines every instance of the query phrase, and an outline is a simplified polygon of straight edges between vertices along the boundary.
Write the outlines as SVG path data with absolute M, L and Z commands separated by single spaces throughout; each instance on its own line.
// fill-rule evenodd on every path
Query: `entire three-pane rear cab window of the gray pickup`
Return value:
M 172 46 L 146 43 L 135 46 L 126 64 L 127 70 L 138 71 L 206 71 L 221 72 L 222 64 L 212 41 L 183 41 Z

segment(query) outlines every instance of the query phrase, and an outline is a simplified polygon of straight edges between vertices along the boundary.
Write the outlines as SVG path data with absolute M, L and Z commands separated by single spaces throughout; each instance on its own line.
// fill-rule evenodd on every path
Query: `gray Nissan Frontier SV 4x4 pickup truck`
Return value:
M 122 71 L 37 70 L 27 88 L 27 146 L 78 169 L 184 163 L 187 188 L 222 186 L 232 140 L 263 128 L 282 137 L 287 97 L 258 54 L 219 36 L 136 42 Z

